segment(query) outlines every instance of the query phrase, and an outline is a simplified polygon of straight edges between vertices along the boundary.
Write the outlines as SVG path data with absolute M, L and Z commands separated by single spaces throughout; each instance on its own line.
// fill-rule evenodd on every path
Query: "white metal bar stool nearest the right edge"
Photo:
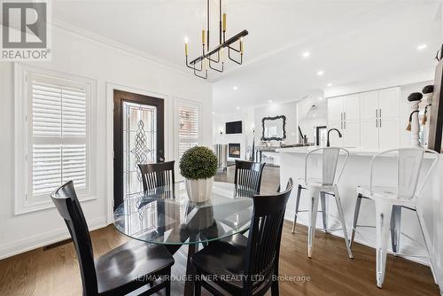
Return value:
M 424 154 L 430 153 L 432 158 L 431 167 L 425 172 L 424 178 L 418 186 L 418 181 L 421 173 L 424 173 L 422 168 Z M 394 154 L 397 157 L 397 186 L 374 186 L 373 173 L 374 163 L 377 159 Z M 354 241 L 355 231 L 357 227 L 370 227 L 365 225 L 358 225 L 358 217 L 360 213 L 361 199 L 374 200 L 376 205 L 376 230 L 377 230 L 377 286 L 382 287 L 385 279 L 385 266 L 387 246 L 389 245 L 389 234 L 392 237 L 392 252 L 398 256 L 414 256 L 414 254 L 399 253 L 400 251 L 400 220 L 401 209 L 409 209 L 416 212 L 420 229 L 424 237 L 424 247 L 428 253 L 431 261 L 431 271 L 434 281 L 437 284 L 437 277 L 435 277 L 435 262 L 429 252 L 429 245 L 431 240 L 428 236 L 426 226 L 424 224 L 424 215 L 421 209 L 417 208 L 417 199 L 420 192 L 424 189 L 424 184 L 431 175 L 432 168 L 437 165 L 439 161 L 439 153 L 425 150 L 423 148 L 401 148 L 392 149 L 376 154 L 370 162 L 370 179 L 369 188 L 357 187 L 357 202 L 354 211 L 353 234 L 351 242 Z M 390 230 L 391 228 L 391 230 Z M 413 239 L 413 238 L 411 238 Z

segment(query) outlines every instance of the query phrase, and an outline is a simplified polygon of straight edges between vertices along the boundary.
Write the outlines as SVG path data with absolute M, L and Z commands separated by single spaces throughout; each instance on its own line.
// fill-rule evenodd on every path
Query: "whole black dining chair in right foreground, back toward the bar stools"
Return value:
M 214 295 L 224 295 L 213 283 L 231 295 L 264 295 L 269 287 L 273 296 L 278 295 L 280 240 L 292 186 L 290 178 L 283 192 L 253 196 L 248 238 L 242 234 L 223 238 L 191 257 L 196 296 L 202 286 Z

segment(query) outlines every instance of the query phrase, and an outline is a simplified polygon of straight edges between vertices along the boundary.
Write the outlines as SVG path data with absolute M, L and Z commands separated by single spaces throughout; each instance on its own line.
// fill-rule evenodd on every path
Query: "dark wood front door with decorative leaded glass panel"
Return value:
M 139 163 L 165 160 L 164 100 L 113 91 L 114 209 L 142 191 Z

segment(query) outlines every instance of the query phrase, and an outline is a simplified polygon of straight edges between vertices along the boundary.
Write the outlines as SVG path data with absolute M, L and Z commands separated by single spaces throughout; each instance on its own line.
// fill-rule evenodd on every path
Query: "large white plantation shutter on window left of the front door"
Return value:
M 89 85 L 40 74 L 31 74 L 28 84 L 28 191 L 48 199 L 70 180 L 78 193 L 89 191 Z

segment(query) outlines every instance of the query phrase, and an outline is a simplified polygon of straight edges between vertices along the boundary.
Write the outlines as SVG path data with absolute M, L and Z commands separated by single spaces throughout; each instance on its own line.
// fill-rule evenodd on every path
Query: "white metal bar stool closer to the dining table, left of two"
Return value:
M 321 179 L 308 179 L 307 178 L 307 161 L 309 157 L 315 152 L 322 152 L 322 178 Z M 339 171 L 337 169 L 338 156 L 340 152 L 344 152 L 345 160 Z M 297 216 L 300 212 L 308 213 L 308 230 L 307 230 L 307 257 L 311 258 L 314 249 L 314 238 L 315 238 L 315 225 L 318 212 L 318 198 L 319 195 L 322 200 L 322 214 L 323 214 L 323 229 L 328 232 L 327 225 L 327 211 L 326 211 L 326 197 L 334 197 L 336 205 L 338 208 L 338 221 L 341 224 L 341 229 L 343 230 L 343 235 L 345 237 L 346 249 L 349 258 L 353 258 L 353 253 L 351 252 L 350 242 L 347 237 L 345 215 L 343 214 L 343 208 L 341 206 L 340 194 L 338 192 L 337 183 L 343 170 L 346 166 L 347 158 L 349 157 L 349 152 L 346 149 L 338 147 L 327 147 L 318 148 L 311 152 L 308 152 L 305 157 L 305 176 L 299 179 L 299 189 L 297 191 L 297 198 L 295 201 L 295 214 L 294 222 L 292 225 L 292 233 L 295 231 L 295 224 L 297 222 Z M 338 171 L 338 174 L 336 174 Z M 336 179 L 336 175 L 338 175 Z M 301 196 L 301 191 L 307 190 L 310 197 L 309 208 L 307 210 L 299 210 L 299 200 Z

